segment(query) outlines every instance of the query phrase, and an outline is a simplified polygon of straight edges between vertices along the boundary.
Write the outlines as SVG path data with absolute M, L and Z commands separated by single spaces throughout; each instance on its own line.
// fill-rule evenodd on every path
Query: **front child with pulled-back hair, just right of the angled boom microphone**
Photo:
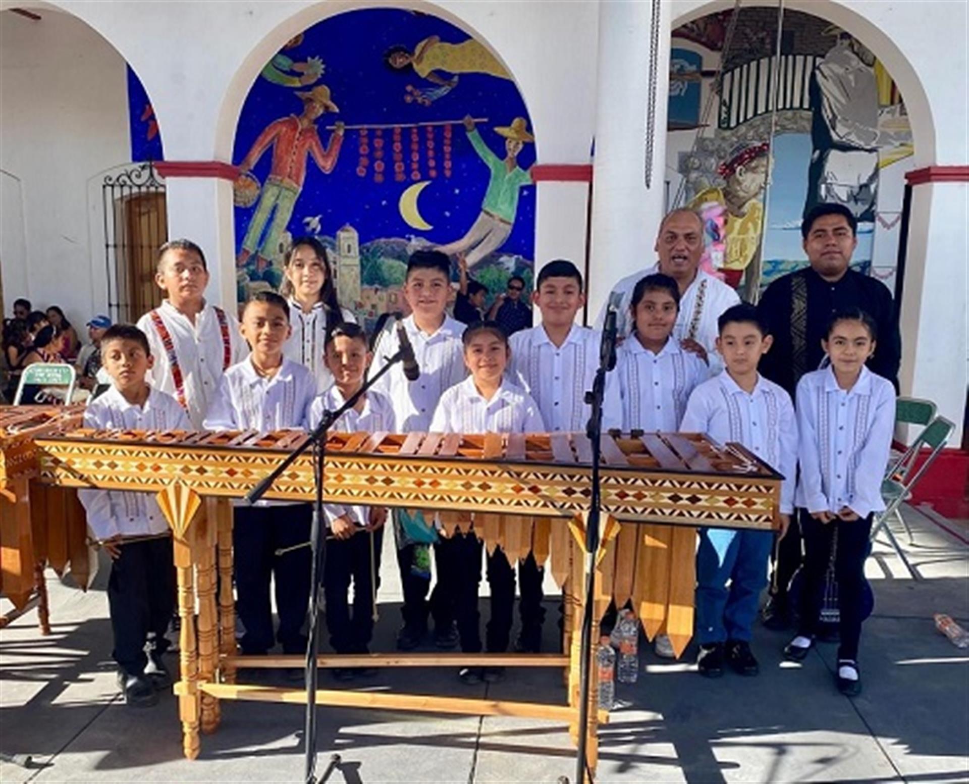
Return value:
M 471 376 L 441 396 L 431 432 L 435 433 L 541 433 L 545 423 L 538 404 L 528 392 L 505 378 L 509 360 L 508 337 L 493 322 L 464 330 L 464 361 Z M 472 521 L 472 525 L 473 525 Z M 465 526 L 466 528 L 468 526 Z M 473 530 L 455 532 L 450 540 L 455 558 L 454 595 L 461 650 L 482 649 L 479 631 L 478 585 L 481 582 L 482 543 Z M 487 556 L 491 589 L 491 618 L 487 624 L 489 653 L 508 648 L 515 605 L 515 569 L 498 547 Z M 468 684 L 501 676 L 501 668 L 466 667 L 458 677 Z

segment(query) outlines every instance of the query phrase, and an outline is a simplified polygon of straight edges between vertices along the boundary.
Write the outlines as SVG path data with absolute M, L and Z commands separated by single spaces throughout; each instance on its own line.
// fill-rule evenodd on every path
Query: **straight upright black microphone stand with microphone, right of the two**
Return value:
M 589 678 L 592 657 L 592 625 L 595 611 L 596 555 L 599 552 L 600 518 L 602 517 L 602 488 L 599 484 L 599 458 L 602 453 L 603 402 L 606 397 L 606 374 L 615 367 L 616 309 L 610 306 L 606 313 L 602 345 L 599 352 L 599 369 L 596 370 L 592 390 L 585 393 L 585 402 L 592 406 L 592 414 L 585 426 L 585 434 L 592 442 L 592 487 L 589 499 L 589 517 L 585 526 L 585 609 L 582 613 L 581 659 L 578 670 L 578 752 L 576 758 L 576 784 L 592 781 L 588 769 L 586 740 L 589 727 Z M 598 708 L 598 704 L 597 704 Z

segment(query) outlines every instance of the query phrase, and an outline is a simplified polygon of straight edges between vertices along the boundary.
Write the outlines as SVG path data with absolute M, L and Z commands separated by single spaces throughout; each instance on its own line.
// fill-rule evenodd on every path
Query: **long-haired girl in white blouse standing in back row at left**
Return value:
M 327 335 L 337 325 L 356 324 L 357 319 L 351 311 L 340 307 L 327 249 L 315 236 L 293 241 L 283 261 L 279 294 L 289 302 L 293 328 L 283 353 L 309 370 L 316 379 L 317 392 L 323 392 L 333 383 L 323 358 Z

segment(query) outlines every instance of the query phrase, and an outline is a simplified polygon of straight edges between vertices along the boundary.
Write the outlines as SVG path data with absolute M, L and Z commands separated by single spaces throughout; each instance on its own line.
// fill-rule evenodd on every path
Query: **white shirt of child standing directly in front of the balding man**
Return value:
M 616 352 L 615 374 L 622 400 L 622 429 L 672 433 L 679 429 L 690 393 L 709 368 L 672 339 L 653 354 L 635 335 Z

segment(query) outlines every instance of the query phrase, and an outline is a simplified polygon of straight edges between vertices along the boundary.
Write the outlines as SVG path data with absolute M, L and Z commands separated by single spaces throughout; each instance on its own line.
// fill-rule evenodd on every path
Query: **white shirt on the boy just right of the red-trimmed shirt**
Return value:
M 204 420 L 206 430 L 304 429 L 316 379 L 295 361 L 283 358 L 272 378 L 256 372 L 252 359 L 230 367 Z

